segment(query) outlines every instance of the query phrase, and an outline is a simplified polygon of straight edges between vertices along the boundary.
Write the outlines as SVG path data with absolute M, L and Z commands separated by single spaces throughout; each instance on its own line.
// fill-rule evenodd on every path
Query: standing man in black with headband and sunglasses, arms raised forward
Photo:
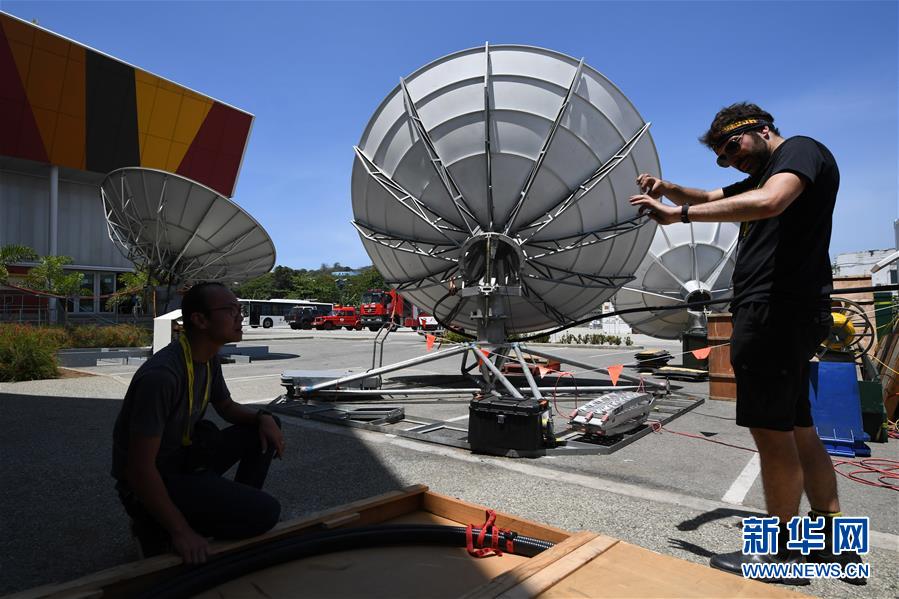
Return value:
M 737 424 L 748 427 L 755 440 L 765 503 L 780 518 L 780 532 L 775 555 L 737 551 L 712 557 L 711 565 L 740 574 L 742 563 L 801 561 L 801 553 L 785 545 L 786 524 L 798 514 L 803 490 L 810 515 L 826 519 L 828 541 L 827 550 L 808 561 L 860 561 L 854 553 L 831 553 L 833 518 L 841 515 L 836 476 L 808 398 L 809 360 L 832 324 L 828 249 L 840 185 L 836 161 L 814 139 L 784 139 L 774 117 L 749 103 L 721 109 L 700 142 L 716 154 L 718 166 L 749 176 L 703 191 L 643 174 L 637 185 L 646 193 L 630 203 L 661 225 L 740 223 L 731 302 Z M 661 196 L 677 206 L 662 204 Z

